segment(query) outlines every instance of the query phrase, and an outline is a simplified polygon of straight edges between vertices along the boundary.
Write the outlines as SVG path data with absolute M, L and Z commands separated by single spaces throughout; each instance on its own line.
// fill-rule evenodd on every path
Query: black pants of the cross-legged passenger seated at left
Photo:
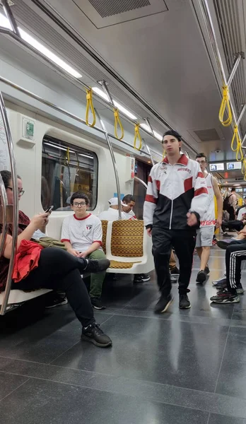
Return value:
M 86 259 L 78 259 L 64 250 L 55 247 L 43 249 L 38 267 L 19 283 L 12 283 L 12 288 L 32 290 L 35 288 L 61 289 L 73 308 L 82 326 L 95 322 L 93 307 L 81 273 L 87 266 Z

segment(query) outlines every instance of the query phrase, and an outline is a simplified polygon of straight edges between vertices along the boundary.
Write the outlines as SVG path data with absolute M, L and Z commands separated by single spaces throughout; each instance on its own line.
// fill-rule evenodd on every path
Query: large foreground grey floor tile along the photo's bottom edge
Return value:
M 209 413 L 30 379 L 1 406 L 4 424 L 206 424 Z

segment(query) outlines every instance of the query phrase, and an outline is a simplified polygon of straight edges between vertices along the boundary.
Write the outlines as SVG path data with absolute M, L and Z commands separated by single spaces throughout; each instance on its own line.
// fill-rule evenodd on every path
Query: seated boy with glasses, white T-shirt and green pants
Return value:
M 88 204 L 86 194 L 76 192 L 71 196 L 74 215 L 66 216 L 62 223 L 61 242 L 64 242 L 67 251 L 74 257 L 105 260 L 105 253 L 102 251 L 102 224 L 97 216 L 87 211 Z M 107 262 L 110 266 L 110 261 Z M 90 276 L 90 301 L 98 310 L 105 309 L 100 300 L 105 270 Z

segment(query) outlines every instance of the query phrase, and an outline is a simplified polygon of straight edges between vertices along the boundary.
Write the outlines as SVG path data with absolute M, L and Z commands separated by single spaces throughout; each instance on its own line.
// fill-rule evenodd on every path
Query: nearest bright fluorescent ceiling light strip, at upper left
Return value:
M 8 28 L 9 30 L 12 30 L 11 24 L 9 23 L 6 16 L 2 15 L 0 13 L 0 26 L 4 28 Z M 42 45 L 40 42 L 35 40 L 31 35 L 26 33 L 24 30 L 18 27 L 18 30 L 20 31 L 21 38 L 25 40 L 29 45 L 34 47 L 38 52 L 42 53 L 44 56 L 46 56 L 49 60 L 53 61 L 54 64 L 57 64 L 60 66 L 61 69 L 64 69 L 66 72 L 70 73 L 75 78 L 81 78 L 82 75 L 78 73 L 74 68 L 72 68 L 69 64 L 66 64 L 66 62 L 62 59 L 60 59 L 57 54 L 52 53 L 47 47 Z

